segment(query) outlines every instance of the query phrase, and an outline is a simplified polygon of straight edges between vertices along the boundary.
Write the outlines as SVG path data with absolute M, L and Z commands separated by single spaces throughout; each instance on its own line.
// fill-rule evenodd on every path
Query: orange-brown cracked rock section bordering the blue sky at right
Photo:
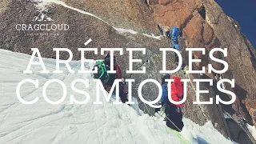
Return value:
M 255 91 L 255 49 L 247 38 L 241 34 L 240 26 L 233 18 L 224 14 L 222 8 L 213 0 L 210 1 L 149 1 L 154 11 L 156 21 L 164 26 L 178 26 L 186 39 L 186 47 L 206 47 L 206 55 L 214 47 L 228 49 L 226 58 L 221 54 L 214 57 L 222 58 L 229 63 L 229 70 L 220 78 L 234 78 L 235 88 L 226 86 L 237 95 L 232 106 L 222 106 L 222 109 L 232 115 L 237 122 L 246 118 L 247 122 L 255 123 L 254 106 L 256 106 Z M 216 70 L 222 70 L 222 65 L 211 62 L 208 56 L 194 53 L 194 58 L 202 59 L 202 66 L 212 64 Z M 207 74 L 214 78 L 214 74 Z M 223 95 L 222 98 L 230 99 Z M 193 118 L 192 118 L 193 119 Z

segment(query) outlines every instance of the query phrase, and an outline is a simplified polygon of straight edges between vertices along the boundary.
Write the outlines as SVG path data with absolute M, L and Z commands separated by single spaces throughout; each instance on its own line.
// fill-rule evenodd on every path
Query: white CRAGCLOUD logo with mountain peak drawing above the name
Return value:
M 70 26 L 66 23 L 57 23 L 54 19 L 50 18 L 44 12 L 40 12 L 38 15 L 34 16 L 30 23 L 17 24 L 15 29 L 18 31 L 29 32 L 29 35 L 39 35 L 39 34 L 59 34 L 61 31 L 66 31 L 70 29 Z M 51 33 L 50 33 L 51 32 Z

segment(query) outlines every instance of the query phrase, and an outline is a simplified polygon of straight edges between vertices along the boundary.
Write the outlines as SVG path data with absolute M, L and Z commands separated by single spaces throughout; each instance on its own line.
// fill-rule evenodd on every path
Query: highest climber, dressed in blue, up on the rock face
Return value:
M 166 32 L 166 36 L 170 38 L 172 46 L 174 46 L 174 49 L 179 50 L 178 46 L 178 36 L 179 36 L 179 29 L 178 27 L 173 27 L 172 30 Z

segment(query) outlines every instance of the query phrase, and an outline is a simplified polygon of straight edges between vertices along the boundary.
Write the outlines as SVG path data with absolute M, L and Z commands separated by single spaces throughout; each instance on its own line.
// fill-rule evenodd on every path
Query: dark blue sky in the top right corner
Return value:
M 215 0 L 224 12 L 238 21 L 241 31 L 256 48 L 256 0 Z

